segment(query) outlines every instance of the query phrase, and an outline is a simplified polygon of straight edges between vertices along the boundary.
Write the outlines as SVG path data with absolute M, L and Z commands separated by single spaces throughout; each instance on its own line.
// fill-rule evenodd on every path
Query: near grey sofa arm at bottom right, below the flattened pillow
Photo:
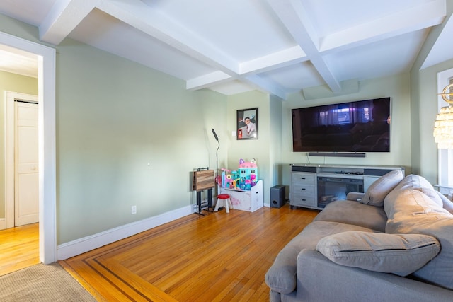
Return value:
M 298 301 L 453 301 L 453 291 L 394 274 L 337 265 L 314 250 L 297 256 Z

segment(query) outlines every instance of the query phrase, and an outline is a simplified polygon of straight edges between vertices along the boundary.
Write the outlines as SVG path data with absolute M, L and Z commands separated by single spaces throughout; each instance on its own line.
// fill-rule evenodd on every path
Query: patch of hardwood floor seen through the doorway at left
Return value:
M 0 276 L 40 263 L 39 223 L 0 231 Z

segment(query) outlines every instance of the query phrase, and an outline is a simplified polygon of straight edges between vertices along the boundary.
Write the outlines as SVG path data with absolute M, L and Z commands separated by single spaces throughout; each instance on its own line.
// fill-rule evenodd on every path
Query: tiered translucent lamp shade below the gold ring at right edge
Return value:
M 434 137 L 438 149 L 453 149 L 453 107 L 440 108 L 434 123 Z

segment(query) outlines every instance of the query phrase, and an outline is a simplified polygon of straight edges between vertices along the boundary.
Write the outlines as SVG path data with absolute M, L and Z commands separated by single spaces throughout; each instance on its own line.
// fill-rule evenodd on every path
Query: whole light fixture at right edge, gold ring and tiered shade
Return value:
M 434 137 L 438 149 L 453 149 L 453 84 L 445 86 L 442 99 L 449 105 L 440 108 L 434 123 Z

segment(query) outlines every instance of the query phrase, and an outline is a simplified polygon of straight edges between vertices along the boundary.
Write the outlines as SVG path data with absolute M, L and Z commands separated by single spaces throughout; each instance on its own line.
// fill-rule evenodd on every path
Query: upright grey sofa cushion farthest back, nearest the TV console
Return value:
M 403 171 L 392 170 L 385 175 L 382 175 L 375 182 L 373 182 L 365 192 L 360 202 L 362 204 L 369 204 L 376 207 L 382 207 L 384 198 L 391 190 L 403 180 Z

